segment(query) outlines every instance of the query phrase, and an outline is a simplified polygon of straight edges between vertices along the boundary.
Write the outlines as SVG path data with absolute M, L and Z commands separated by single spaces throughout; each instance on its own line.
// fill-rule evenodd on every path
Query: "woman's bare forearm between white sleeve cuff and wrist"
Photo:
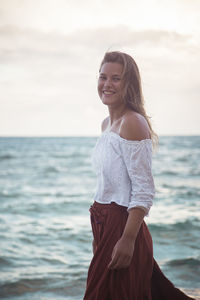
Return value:
M 133 241 L 136 240 L 137 234 L 140 230 L 140 226 L 143 222 L 145 212 L 142 208 L 134 207 L 129 211 L 126 226 L 124 228 L 122 238 L 128 238 Z

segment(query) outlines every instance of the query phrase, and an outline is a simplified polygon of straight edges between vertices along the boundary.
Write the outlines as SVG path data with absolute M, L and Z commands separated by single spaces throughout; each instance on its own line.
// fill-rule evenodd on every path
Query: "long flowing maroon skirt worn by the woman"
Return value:
M 97 248 L 88 270 L 83 300 L 186 300 L 186 296 L 164 276 L 153 258 L 151 234 L 143 221 L 135 241 L 131 264 L 108 269 L 116 242 L 122 236 L 127 208 L 114 202 L 94 202 L 91 225 Z

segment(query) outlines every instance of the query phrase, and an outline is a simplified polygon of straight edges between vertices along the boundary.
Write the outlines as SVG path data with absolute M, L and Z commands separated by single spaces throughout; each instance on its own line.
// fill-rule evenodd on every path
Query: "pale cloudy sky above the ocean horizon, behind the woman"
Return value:
M 200 134 L 199 0 L 1 0 L 0 136 L 97 136 L 106 51 L 140 69 L 158 135 Z

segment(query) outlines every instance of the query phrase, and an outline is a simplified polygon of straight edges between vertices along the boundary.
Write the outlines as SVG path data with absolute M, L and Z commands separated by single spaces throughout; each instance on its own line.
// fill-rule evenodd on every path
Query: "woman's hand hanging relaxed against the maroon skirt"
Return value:
M 127 268 L 133 257 L 135 240 L 121 237 L 113 248 L 109 269 Z

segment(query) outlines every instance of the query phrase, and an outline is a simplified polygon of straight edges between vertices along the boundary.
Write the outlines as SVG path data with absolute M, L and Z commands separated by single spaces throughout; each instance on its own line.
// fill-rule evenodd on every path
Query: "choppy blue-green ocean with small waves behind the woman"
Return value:
M 0 299 L 81 300 L 97 137 L 0 138 Z M 145 218 L 164 274 L 200 299 L 200 136 L 161 136 Z

